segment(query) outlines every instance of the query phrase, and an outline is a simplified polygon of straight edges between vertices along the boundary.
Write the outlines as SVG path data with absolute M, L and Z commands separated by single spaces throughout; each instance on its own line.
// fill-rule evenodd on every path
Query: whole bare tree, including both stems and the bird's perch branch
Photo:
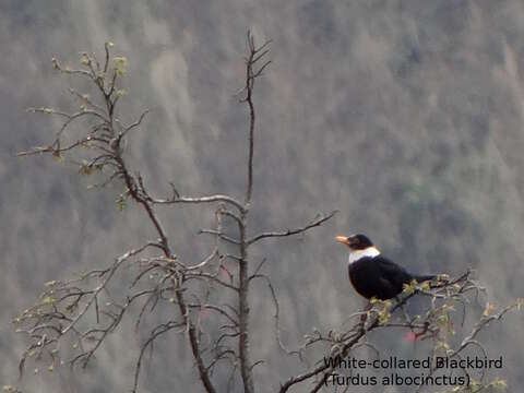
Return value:
M 218 391 L 214 371 L 219 369 L 229 373 L 230 384 L 234 384 L 236 376 L 239 376 L 243 391 L 252 393 L 255 391 L 253 368 L 261 362 L 253 360 L 250 352 L 249 294 L 254 279 L 265 281 L 271 291 L 275 307 L 275 336 L 281 348 L 288 355 L 297 355 L 300 360 L 311 348 L 314 348 L 318 356 L 319 345 L 322 346 L 323 354 L 330 357 L 347 356 L 362 345 L 373 347 L 368 341 L 368 333 L 388 327 L 404 327 L 412 331 L 417 340 L 432 340 L 433 353 L 444 350 L 450 357 L 460 357 L 469 346 L 485 352 L 484 346 L 476 340 L 478 333 L 491 321 L 500 320 L 509 310 L 520 308 L 521 301 L 498 310 L 488 303 L 472 330 L 464 334 L 462 341 L 455 340 L 453 346 L 450 336 L 451 331 L 456 327 L 453 324 L 455 308 L 462 307 L 465 313 L 468 305 L 474 301 L 472 296 L 478 297 L 483 290 L 467 272 L 456 278 L 441 277 L 431 287 L 413 283 L 406 286 L 404 296 L 398 301 L 393 303 L 372 300 L 370 308 L 353 314 L 350 320 L 357 321 L 349 329 L 337 332 L 331 327 L 326 329 L 327 333 L 313 331 L 299 348 L 289 350 L 284 346 L 279 335 L 279 305 L 275 289 L 271 278 L 262 273 L 264 261 L 254 264 L 250 258 L 250 248 L 267 238 L 303 234 L 322 225 L 336 212 L 317 215 L 309 223 L 291 229 L 254 234 L 250 230 L 249 217 L 255 191 L 253 92 L 255 82 L 271 63 L 266 60 L 269 44 L 267 41 L 258 46 L 253 36 L 248 34 L 245 85 L 239 93 L 242 95 L 240 102 L 246 104 L 248 109 L 246 190 L 241 196 L 223 193 L 188 196 L 182 195 L 172 183 L 168 196 L 153 195 L 140 171 L 130 168 L 124 151 L 126 141 L 132 138 L 133 131 L 144 127 L 147 115 L 147 111 L 144 111 L 130 124 L 126 124 L 118 117 L 117 107 L 123 95 L 121 80 L 126 73 L 126 58 L 114 56 L 112 44 L 107 43 L 102 62 L 86 52 L 81 55 L 81 64 L 76 69 L 63 67 L 57 59 L 52 60 L 53 67 L 61 73 L 86 79 L 95 86 L 97 97 L 92 98 L 71 88 L 71 94 L 81 104 L 79 111 L 33 109 L 36 112 L 58 116 L 63 119 L 63 123 L 51 144 L 20 155 L 51 154 L 58 159 L 69 159 L 76 164 L 83 175 L 103 176 L 99 187 L 109 183 L 122 184 L 119 206 L 124 209 L 128 201 L 134 202 L 134 205 L 146 213 L 154 235 L 153 239 L 127 250 L 105 267 L 92 270 L 72 279 L 57 279 L 46 284 L 40 300 L 15 319 L 19 331 L 29 340 L 20 362 L 21 373 L 29 359 L 46 361 L 49 370 L 66 364 L 86 367 L 106 337 L 122 323 L 124 315 L 132 313 L 134 324 L 140 329 L 143 320 L 154 315 L 153 311 L 159 305 L 167 305 L 171 307 L 172 319 L 155 323 L 143 341 L 132 381 L 133 392 L 138 391 L 146 349 L 168 332 L 178 332 L 187 334 L 189 348 L 206 392 Z M 83 122 L 85 120 L 86 122 Z M 73 123 L 82 124 L 80 136 L 68 134 Z M 215 240 L 214 247 L 201 261 L 181 261 L 177 257 L 156 212 L 160 205 L 184 204 L 213 206 L 215 225 L 200 233 L 212 236 Z M 231 234 L 226 227 L 235 230 Z M 129 285 L 122 289 L 116 277 L 124 276 L 123 271 L 129 271 L 124 267 L 130 267 L 134 273 L 128 278 Z M 118 297 L 116 293 L 119 294 Z M 403 310 L 404 305 L 416 294 L 431 300 L 424 314 L 415 319 L 405 312 L 401 318 L 391 317 L 394 311 Z M 133 313 L 134 311 L 136 312 Z M 204 311 L 213 315 L 206 319 L 207 322 L 201 318 Z M 93 314 L 94 318 L 90 317 Z M 204 324 L 207 324 L 207 329 L 203 327 Z M 333 377 L 334 366 L 323 359 L 314 360 L 318 361 L 313 367 L 306 366 L 303 372 L 284 380 L 278 391 L 288 392 L 305 382 L 310 384 L 308 388 L 300 388 L 301 391 L 307 389 L 318 392 L 325 386 Z M 464 372 L 467 373 L 467 370 Z M 486 382 L 484 385 L 488 386 L 490 383 L 499 382 Z

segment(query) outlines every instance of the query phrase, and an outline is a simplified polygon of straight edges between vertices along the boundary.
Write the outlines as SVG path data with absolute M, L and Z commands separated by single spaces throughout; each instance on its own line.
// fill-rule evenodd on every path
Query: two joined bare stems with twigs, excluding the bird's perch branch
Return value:
M 152 195 L 140 171 L 131 169 L 124 148 L 127 140 L 132 138 L 130 131 L 144 127 L 148 111 L 143 111 L 134 122 L 124 124 L 116 110 L 124 95 L 121 79 L 127 60 L 112 55 L 110 43 L 104 47 L 102 63 L 87 52 L 81 53 L 79 69 L 70 69 L 57 59 L 52 60 L 55 69 L 61 73 L 87 79 L 94 85 L 96 94 L 92 97 L 71 88 L 74 99 L 81 104 L 80 110 L 72 114 L 52 108 L 32 109 L 57 116 L 62 123 L 49 145 L 21 152 L 19 155 L 47 153 L 59 160 L 68 159 L 68 163 L 79 167 L 79 174 L 83 176 L 103 174 L 104 180 L 94 187 L 104 188 L 109 183 L 123 187 L 117 201 L 119 209 L 126 209 L 128 202 L 140 206 L 146 213 L 146 222 L 157 239 L 123 253 L 108 267 L 91 270 L 74 279 L 49 283 L 41 300 L 15 320 L 20 331 L 31 341 L 21 359 L 21 370 L 29 358 L 41 360 L 47 357 L 56 364 L 62 355 L 68 355 L 71 366 L 81 364 L 86 367 L 107 336 L 120 325 L 123 317 L 135 309 L 131 306 L 136 305 L 138 308 L 133 322 L 135 330 L 139 330 L 144 329 L 146 323 L 142 321 L 150 319 L 158 305 L 166 305 L 174 308 L 176 315 L 166 323 L 155 322 L 156 325 L 153 325 L 142 344 L 135 364 L 133 392 L 138 390 L 145 352 L 153 347 L 158 337 L 171 331 L 187 333 L 199 378 L 207 393 L 216 392 L 212 381 L 213 370 L 224 360 L 230 368 L 229 382 L 233 383 L 236 374 L 239 374 L 243 391 L 254 392 L 253 369 L 263 364 L 262 359 L 252 361 L 250 355 L 250 284 L 257 278 L 264 279 L 271 291 L 275 307 L 276 338 L 283 349 L 285 346 L 279 334 L 279 305 L 275 287 L 267 275 L 260 273 L 265 259 L 254 270 L 250 269 L 248 248 L 263 238 L 305 233 L 322 225 L 335 214 L 333 212 L 315 217 L 301 228 L 248 237 L 248 218 L 254 189 L 254 83 L 271 63 L 265 60 L 269 44 L 266 41 L 257 46 L 253 35 L 248 33 L 242 88 L 246 96 L 241 99 L 248 107 L 248 158 L 246 189 L 240 198 L 223 193 L 181 195 L 174 183 L 169 183 L 171 193 L 167 198 Z M 71 132 L 73 124 L 78 126 L 75 133 L 81 130 L 78 138 Z M 181 261 L 174 252 L 170 243 L 172 239 L 164 227 L 158 210 L 160 205 L 177 204 L 215 207 L 214 227 L 200 230 L 200 234 L 213 236 L 214 245 L 200 261 Z M 225 231 L 223 221 L 234 223 L 235 226 L 226 227 Z M 230 248 L 235 251 L 229 251 Z M 127 269 L 121 269 L 123 265 Z M 129 282 L 122 289 L 116 277 L 130 271 L 133 276 L 128 277 Z M 88 321 L 91 313 L 94 313 L 94 323 Z M 207 318 L 209 314 L 213 318 Z M 66 354 L 58 350 L 58 344 L 62 341 L 72 344 L 72 349 Z M 300 350 L 286 352 L 300 356 Z

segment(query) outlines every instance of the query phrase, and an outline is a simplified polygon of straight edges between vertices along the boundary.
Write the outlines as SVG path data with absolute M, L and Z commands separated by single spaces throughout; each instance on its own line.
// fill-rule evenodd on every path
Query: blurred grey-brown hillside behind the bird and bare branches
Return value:
M 368 234 L 415 272 L 472 266 L 496 303 L 523 296 L 521 0 L 3 0 L 0 383 L 16 382 L 25 343 L 10 320 L 45 282 L 105 266 L 152 236 L 132 204 L 118 211 L 118 187 L 87 189 L 91 179 L 72 166 L 15 157 L 49 142 L 57 124 L 27 107 L 70 105 L 68 79 L 52 70 L 51 57 L 74 64 L 80 51 L 102 55 L 104 41 L 114 41 L 129 59 L 122 117 L 152 110 L 128 146 L 133 167 L 158 193 L 174 181 L 183 194 L 240 194 L 247 112 L 234 94 L 242 86 L 248 28 L 260 43 L 273 40 L 273 63 L 255 88 L 253 228 L 341 211 L 303 237 L 255 250 L 255 259 L 267 258 L 286 343 L 296 345 L 313 326 L 340 325 L 362 305 L 347 282 L 346 250 L 333 239 L 340 234 Z M 162 211 L 183 259 L 209 249 L 196 233 L 211 213 Z M 267 359 L 255 378 L 271 392 L 300 366 L 278 350 L 264 285 L 252 301 L 253 358 Z M 511 391 L 524 384 L 523 337 L 514 314 L 480 337 L 503 355 Z M 21 385 L 127 391 L 139 345 L 130 325 L 85 372 L 28 370 Z M 421 356 L 413 343 L 392 350 Z M 182 337 L 170 336 L 155 354 L 143 369 L 144 392 L 202 391 Z

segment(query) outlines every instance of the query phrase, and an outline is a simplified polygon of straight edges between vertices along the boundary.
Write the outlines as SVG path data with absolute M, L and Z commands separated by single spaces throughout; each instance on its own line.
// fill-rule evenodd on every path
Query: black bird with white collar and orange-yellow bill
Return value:
M 434 275 L 414 275 L 382 257 L 366 235 L 337 236 L 336 240 L 349 247 L 349 281 L 358 294 L 367 299 L 386 300 L 404 289 L 404 284 L 433 279 Z

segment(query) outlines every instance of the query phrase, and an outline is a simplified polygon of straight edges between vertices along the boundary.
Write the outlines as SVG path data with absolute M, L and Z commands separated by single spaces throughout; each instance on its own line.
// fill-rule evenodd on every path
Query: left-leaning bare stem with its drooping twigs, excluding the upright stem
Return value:
M 148 195 L 141 176 L 140 175 L 135 176 L 131 172 L 131 170 L 129 169 L 128 163 L 123 156 L 124 138 L 127 136 L 129 131 L 142 124 L 142 121 L 147 111 L 144 111 L 140 116 L 139 120 L 136 120 L 134 123 L 128 127 L 123 127 L 119 121 L 119 119 L 116 117 L 115 107 L 117 102 L 122 95 L 122 92 L 118 90 L 117 85 L 119 84 L 119 80 L 126 71 L 127 60 L 122 57 L 112 57 L 112 55 L 110 53 L 110 47 L 111 47 L 110 44 L 106 44 L 105 46 L 106 58 L 105 58 L 103 70 L 100 69 L 98 61 L 93 56 L 90 56 L 85 52 L 81 55 L 81 63 L 83 68 L 79 70 L 71 70 L 69 68 L 63 68 L 58 62 L 58 60 L 53 59 L 53 67 L 60 72 L 72 74 L 72 75 L 81 75 L 91 80 L 98 90 L 99 96 L 102 97 L 103 105 L 102 106 L 97 105 L 91 98 L 80 93 L 73 92 L 73 94 L 76 97 L 81 98 L 86 104 L 86 107 L 82 107 L 81 111 L 79 112 L 69 115 L 67 112 L 53 110 L 50 108 L 33 109 L 33 111 L 36 111 L 36 112 L 60 116 L 64 118 L 64 122 L 62 123 L 61 128 L 57 132 L 52 144 L 44 147 L 36 147 L 31 152 L 23 152 L 20 155 L 51 153 L 57 157 L 60 157 L 61 154 L 64 152 L 75 152 L 78 148 L 87 148 L 87 150 L 91 148 L 95 153 L 95 157 L 91 159 L 87 166 L 99 165 L 100 169 L 103 169 L 104 166 L 111 166 L 114 168 L 114 174 L 110 176 L 109 179 L 110 180 L 119 179 L 123 181 L 123 184 L 126 187 L 126 191 L 123 195 L 126 195 L 127 198 L 131 198 L 134 202 L 136 202 L 139 205 L 141 205 L 144 209 L 150 222 L 153 224 L 153 227 L 157 236 L 159 237 L 158 241 L 155 242 L 155 246 L 162 249 L 164 257 L 167 260 L 174 260 L 175 258 L 169 246 L 168 236 L 160 223 L 159 217 L 157 216 L 154 210 L 154 205 L 160 202 L 155 201 Z M 109 66 L 111 59 L 114 61 L 112 68 L 110 68 Z M 68 128 L 74 121 L 82 118 L 97 119 L 100 121 L 100 123 L 94 126 L 91 132 L 84 138 L 81 138 L 78 142 L 74 142 L 68 145 L 67 147 L 61 147 L 63 133 L 68 130 Z M 117 129 L 117 127 L 119 127 L 120 130 Z M 100 152 L 102 154 L 96 155 L 97 153 L 100 153 Z M 198 201 L 198 199 L 187 199 L 187 200 L 182 199 L 182 202 L 188 202 L 188 203 L 215 202 L 215 201 L 231 203 L 231 201 L 234 200 L 228 196 L 222 198 L 219 195 L 204 198 L 204 199 L 201 199 L 200 201 Z M 235 204 L 234 202 L 233 204 Z M 240 205 L 240 204 L 237 203 L 237 205 Z M 142 250 L 143 249 L 140 249 L 140 251 Z M 153 299 L 154 303 L 156 303 L 156 301 L 158 301 L 158 299 L 160 298 L 162 293 L 164 290 L 167 290 L 167 288 L 164 288 L 163 286 L 157 285 L 154 290 L 151 290 L 151 291 L 146 290 L 146 291 L 140 293 L 140 296 L 136 295 L 136 296 L 128 297 L 128 299 L 122 305 L 110 302 L 110 307 L 106 308 L 105 310 L 99 310 L 98 298 L 102 291 L 107 288 L 109 282 L 111 281 L 115 272 L 120 266 L 120 264 L 127 261 L 130 257 L 133 257 L 139 251 L 136 252 L 131 251 L 126 253 L 123 257 L 117 259 L 114 266 L 108 270 L 102 271 L 99 273 L 92 272 L 85 275 L 84 276 L 85 279 L 88 279 L 92 276 L 96 276 L 97 274 L 99 275 L 99 277 L 104 277 L 103 282 L 94 289 L 82 290 L 80 288 L 71 287 L 72 283 L 68 283 L 63 285 L 63 287 L 61 286 L 58 289 L 53 288 L 52 291 L 49 291 L 49 296 L 45 297 L 46 303 L 38 306 L 39 310 L 41 310 L 43 306 L 47 308 L 51 308 L 53 310 L 52 313 L 49 311 L 47 313 L 44 313 L 41 318 L 37 319 L 36 324 L 37 325 L 40 324 L 44 326 L 48 324 L 48 320 L 57 320 L 57 318 L 63 319 L 63 317 L 61 317 L 62 314 L 57 312 L 58 307 L 61 305 L 56 303 L 55 298 L 50 296 L 50 295 L 53 295 L 56 290 L 64 291 L 67 296 L 61 297 L 63 301 L 69 300 L 71 298 L 69 294 L 78 293 L 78 295 L 73 296 L 74 301 L 72 303 L 64 305 L 67 309 L 78 309 L 80 307 L 81 299 L 86 297 L 88 298 L 88 300 L 82 306 L 82 308 L 76 313 L 76 315 L 72 318 L 64 327 L 59 329 L 60 336 L 66 335 L 68 332 L 74 332 L 79 337 L 78 345 L 81 346 L 82 348 L 83 348 L 83 342 L 86 338 L 93 338 L 93 335 L 97 334 L 97 336 L 94 338 L 95 345 L 92 347 L 92 349 L 85 349 L 85 350 L 81 349 L 81 353 L 72 359 L 71 361 L 72 364 L 82 359 L 84 365 L 86 365 L 88 359 L 93 356 L 94 350 L 96 350 L 96 348 L 99 347 L 99 345 L 103 343 L 107 334 L 112 332 L 114 329 L 119 324 L 123 313 L 128 309 L 131 301 L 139 299 L 143 295 L 147 294 L 151 296 L 151 299 Z M 210 261 L 211 259 L 212 258 L 210 258 Z M 204 261 L 204 262 L 205 262 L 204 263 L 205 265 L 209 261 Z M 176 271 L 172 272 L 170 267 L 167 267 L 167 265 L 166 265 L 165 273 L 166 273 L 166 277 L 171 277 L 171 279 L 174 281 L 172 288 L 175 289 L 175 298 L 176 298 L 175 302 L 178 306 L 180 315 L 182 318 L 181 323 L 183 324 L 184 329 L 188 332 L 190 347 L 191 347 L 193 357 L 195 359 L 196 367 L 199 369 L 200 379 L 205 390 L 209 393 L 215 392 L 215 389 L 209 376 L 209 369 L 204 364 L 203 354 L 200 347 L 200 337 L 199 337 L 200 331 L 194 325 L 193 321 L 188 314 L 188 308 L 186 306 L 186 299 L 184 299 L 183 293 L 181 290 L 177 290 L 177 288 L 181 285 L 180 282 L 183 282 L 183 275 L 177 274 Z M 139 274 L 139 276 L 142 276 L 142 275 Z M 109 320 L 109 324 L 103 329 L 88 330 L 85 333 L 81 333 L 75 329 L 76 322 L 81 320 L 86 314 L 86 311 L 92 307 L 94 307 L 96 310 L 97 321 L 99 321 L 99 314 L 104 314 L 105 318 Z M 27 313 L 23 313 L 23 315 L 19 320 L 20 322 L 26 322 L 34 318 L 35 315 L 28 311 Z M 140 318 L 141 317 L 139 317 L 139 321 L 140 321 Z M 57 321 L 57 323 L 59 323 L 59 325 L 62 326 L 62 322 Z M 27 332 L 28 334 L 31 334 L 29 331 Z M 38 340 L 38 337 L 35 335 L 35 331 L 33 331 L 32 336 Z M 55 343 L 57 340 L 58 338 L 46 341 L 45 344 L 46 346 L 49 346 L 50 344 Z M 39 343 L 41 344 L 41 340 L 39 341 Z M 27 357 L 31 357 L 32 350 L 35 348 L 43 347 L 40 344 L 36 346 L 35 345 L 29 346 L 28 350 L 25 353 L 21 361 L 21 369 L 23 368 L 25 359 Z

